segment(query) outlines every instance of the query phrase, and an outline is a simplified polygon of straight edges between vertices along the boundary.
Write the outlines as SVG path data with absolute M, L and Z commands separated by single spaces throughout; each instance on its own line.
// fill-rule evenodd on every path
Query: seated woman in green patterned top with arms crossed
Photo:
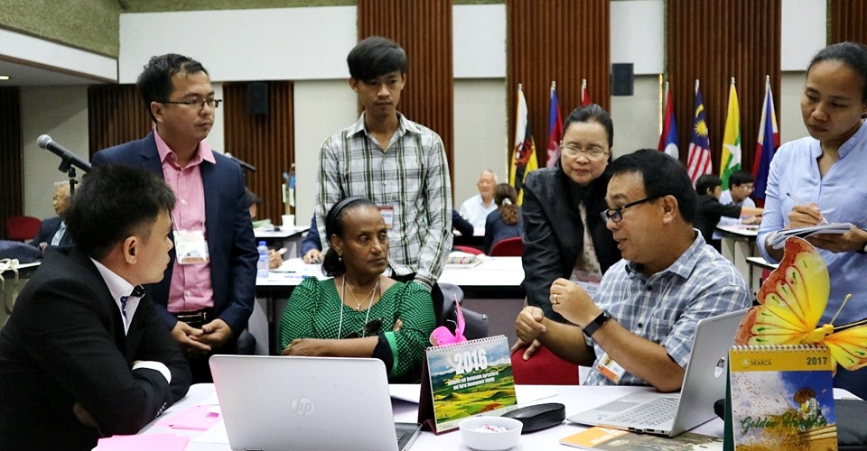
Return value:
M 283 355 L 376 357 L 389 382 L 418 382 L 435 319 L 430 293 L 383 274 L 388 228 L 368 198 L 344 198 L 325 218 L 322 272 L 292 292 L 280 319 Z

